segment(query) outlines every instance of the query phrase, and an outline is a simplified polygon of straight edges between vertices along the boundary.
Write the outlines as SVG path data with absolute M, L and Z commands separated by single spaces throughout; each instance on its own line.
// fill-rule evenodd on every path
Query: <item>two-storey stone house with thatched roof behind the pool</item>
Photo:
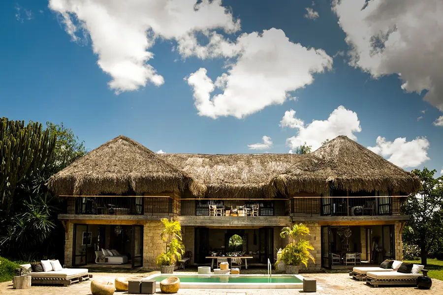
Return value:
M 334 257 L 401 260 L 402 212 L 418 178 L 345 136 L 313 153 L 155 154 L 119 136 L 50 179 L 65 198 L 65 264 L 94 264 L 115 249 L 131 266 L 157 269 L 163 217 L 180 221 L 190 263 L 210 263 L 239 236 L 249 264 L 274 261 L 283 227 L 303 223 L 314 245 L 310 269 Z M 346 231 L 344 231 L 346 229 Z M 238 241 L 238 240 L 237 240 Z M 238 249 L 237 249 L 238 250 Z

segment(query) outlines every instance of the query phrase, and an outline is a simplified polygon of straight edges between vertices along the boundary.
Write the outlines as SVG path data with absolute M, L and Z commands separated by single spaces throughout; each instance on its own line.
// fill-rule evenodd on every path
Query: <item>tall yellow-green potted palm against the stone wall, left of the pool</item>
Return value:
M 176 220 L 162 218 L 164 229 L 160 233 L 161 239 L 166 243 L 165 250 L 157 256 L 157 265 L 161 273 L 173 273 L 176 261 L 182 259 L 185 246 L 182 240 L 182 227 Z

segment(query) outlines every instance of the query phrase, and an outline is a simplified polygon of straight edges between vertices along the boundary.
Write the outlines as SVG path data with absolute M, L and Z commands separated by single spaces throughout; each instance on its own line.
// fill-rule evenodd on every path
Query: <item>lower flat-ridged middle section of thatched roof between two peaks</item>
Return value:
M 270 180 L 303 156 L 295 154 L 160 154 L 203 183 L 208 198 L 273 198 Z

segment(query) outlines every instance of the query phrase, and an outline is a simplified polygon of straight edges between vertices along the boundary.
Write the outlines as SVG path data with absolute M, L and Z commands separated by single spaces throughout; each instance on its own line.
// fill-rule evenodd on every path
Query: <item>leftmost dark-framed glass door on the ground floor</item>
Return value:
M 88 247 L 92 243 L 92 234 L 88 231 L 87 224 L 74 224 L 74 237 L 72 247 L 72 265 L 86 266 Z

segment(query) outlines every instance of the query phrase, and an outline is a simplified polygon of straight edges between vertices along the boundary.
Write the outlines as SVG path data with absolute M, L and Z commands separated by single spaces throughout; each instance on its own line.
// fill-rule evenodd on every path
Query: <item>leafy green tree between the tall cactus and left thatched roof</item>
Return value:
M 57 173 L 78 158 L 86 155 L 85 142 L 80 141 L 71 128 L 65 128 L 63 122 L 54 124 L 46 122 L 46 129 L 57 138 L 53 158 L 51 159 L 53 173 Z

